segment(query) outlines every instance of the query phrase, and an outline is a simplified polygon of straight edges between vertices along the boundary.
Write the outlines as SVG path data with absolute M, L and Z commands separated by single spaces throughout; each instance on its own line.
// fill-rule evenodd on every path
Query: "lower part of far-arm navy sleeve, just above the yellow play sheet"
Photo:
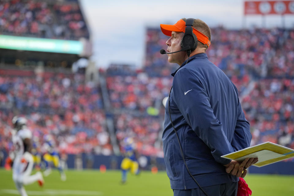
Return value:
M 232 139 L 234 151 L 242 150 L 250 146 L 252 135 L 250 133 L 250 124 L 245 119 L 244 112 L 238 99 L 238 116 L 235 126 L 235 132 Z

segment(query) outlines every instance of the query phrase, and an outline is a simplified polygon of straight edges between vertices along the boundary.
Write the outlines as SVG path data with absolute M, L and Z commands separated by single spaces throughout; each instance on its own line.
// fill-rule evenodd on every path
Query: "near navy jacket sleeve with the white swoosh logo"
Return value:
M 220 164 L 230 160 L 220 156 L 234 152 L 221 122 L 213 114 L 209 96 L 201 81 L 186 68 L 179 70 L 173 80 L 173 96 L 179 111 L 199 138 L 211 149 Z

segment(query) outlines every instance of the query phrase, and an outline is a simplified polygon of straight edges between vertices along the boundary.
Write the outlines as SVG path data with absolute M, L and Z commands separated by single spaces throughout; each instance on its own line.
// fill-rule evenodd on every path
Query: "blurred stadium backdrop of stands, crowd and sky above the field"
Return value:
M 211 28 L 208 58 L 238 88 L 251 145 L 294 149 L 294 1 L 0 0 L 0 167 L 19 115 L 41 154 L 50 135 L 65 169 L 119 169 L 128 137 L 142 171 L 165 171 L 162 102 L 178 65 L 159 53 L 159 24 L 183 17 Z

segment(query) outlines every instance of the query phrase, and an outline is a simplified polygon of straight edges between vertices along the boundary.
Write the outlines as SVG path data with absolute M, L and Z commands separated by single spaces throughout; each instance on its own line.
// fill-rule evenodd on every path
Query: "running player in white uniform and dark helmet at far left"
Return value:
M 13 161 L 13 181 L 21 196 L 27 196 L 23 185 L 38 181 L 39 185 L 42 186 L 44 180 L 40 171 L 34 175 L 30 175 L 34 161 L 30 153 L 32 149 L 32 133 L 26 127 L 27 120 L 23 117 L 14 117 L 12 122 L 14 129 L 17 131 L 12 138 L 15 154 Z

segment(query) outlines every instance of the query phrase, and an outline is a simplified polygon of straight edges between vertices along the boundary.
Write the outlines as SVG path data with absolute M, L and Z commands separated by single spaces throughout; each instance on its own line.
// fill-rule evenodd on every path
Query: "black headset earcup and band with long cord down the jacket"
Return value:
M 197 36 L 193 33 L 193 22 L 194 22 L 194 18 L 188 18 L 186 20 L 186 28 L 185 28 L 185 34 L 181 40 L 181 47 L 184 48 L 184 47 L 189 47 L 190 49 L 187 50 L 187 55 L 188 55 L 188 59 L 186 61 L 186 64 L 189 60 L 189 56 L 191 54 L 191 51 L 194 51 L 198 45 L 198 39 L 197 39 Z M 185 64 L 185 65 L 186 65 Z M 172 89 L 172 86 L 171 86 L 171 89 Z M 181 155 L 182 155 L 182 158 L 183 158 L 183 161 L 184 161 L 184 164 L 187 168 L 187 171 L 188 173 L 190 174 L 190 176 L 193 178 L 193 180 L 195 181 L 195 183 L 198 185 L 198 187 L 203 191 L 203 193 L 208 196 L 208 194 L 202 189 L 202 187 L 198 184 L 198 182 L 196 181 L 196 179 L 194 178 L 194 176 L 191 174 L 187 164 L 186 164 L 186 161 L 185 161 L 185 157 L 184 157 L 184 153 L 183 153 L 183 149 L 182 149 L 182 145 L 181 145 L 181 142 L 179 140 L 179 136 L 178 136 L 178 133 L 177 131 L 175 130 L 175 126 L 174 124 L 172 123 L 172 119 L 171 119 L 171 111 L 170 111 L 170 107 L 169 107 L 169 98 L 171 96 L 171 90 L 169 91 L 169 94 L 168 94 L 168 114 L 169 114 L 169 119 L 171 121 L 171 126 L 172 128 L 174 129 L 175 131 L 175 135 L 177 136 L 177 139 L 178 139 L 178 142 L 179 142 L 179 147 L 180 147 L 180 150 L 181 150 Z

